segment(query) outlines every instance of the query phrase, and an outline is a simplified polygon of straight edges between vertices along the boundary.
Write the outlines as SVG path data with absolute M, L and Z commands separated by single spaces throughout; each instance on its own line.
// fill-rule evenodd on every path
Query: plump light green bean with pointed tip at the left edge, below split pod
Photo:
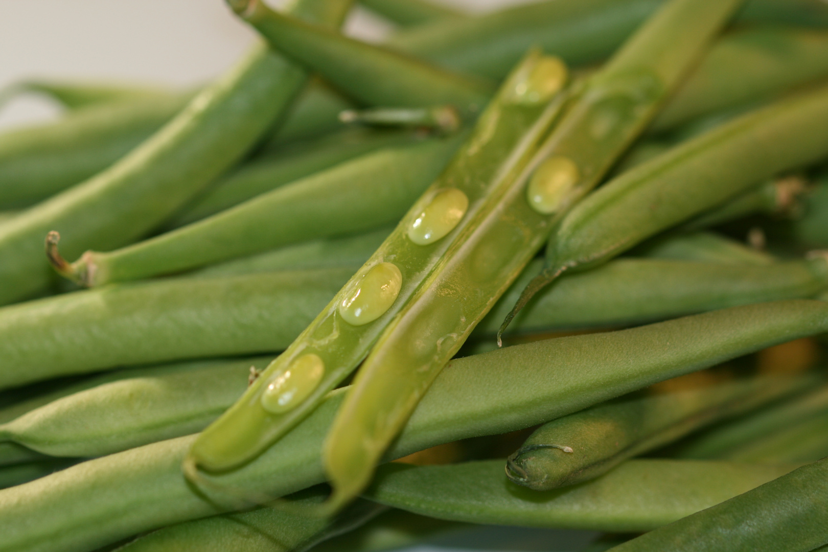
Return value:
M 203 430 L 272 355 L 132 377 L 79 391 L 0 425 L 0 439 L 50 456 L 94 458 Z

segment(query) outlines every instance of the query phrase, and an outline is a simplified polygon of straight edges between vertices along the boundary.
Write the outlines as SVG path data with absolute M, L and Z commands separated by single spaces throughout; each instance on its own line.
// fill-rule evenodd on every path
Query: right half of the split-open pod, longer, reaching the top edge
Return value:
M 672 0 L 602 70 L 575 84 L 532 160 L 487 198 L 360 367 L 325 444 L 330 508 L 368 484 L 436 374 L 542 247 L 553 223 L 643 131 L 738 5 Z

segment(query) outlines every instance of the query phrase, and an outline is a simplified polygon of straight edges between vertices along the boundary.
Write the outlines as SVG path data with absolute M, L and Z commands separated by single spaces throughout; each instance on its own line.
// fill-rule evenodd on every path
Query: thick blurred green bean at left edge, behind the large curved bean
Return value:
M 21 209 L 118 161 L 169 121 L 189 95 L 107 103 L 0 134 L 0 209 Z

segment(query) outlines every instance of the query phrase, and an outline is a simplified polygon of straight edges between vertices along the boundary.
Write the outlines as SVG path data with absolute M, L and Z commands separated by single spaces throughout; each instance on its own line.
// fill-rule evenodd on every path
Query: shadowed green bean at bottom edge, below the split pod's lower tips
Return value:
M 298 506 L 318 504 L 325 490 L 311 487 L 291 497 Z M 386 508 L 374 502 L 359 501 L 335 519 L 301 516 L 269 507 L 209 517 L 205 520 L 166 527 L 139 536 L 123 552 L 163 552 L 165 550 L 200 550 L 200 552 L 301 552 L 323 540 L 363 525 Z M 315 549 L 314 549 L 315 550 Z

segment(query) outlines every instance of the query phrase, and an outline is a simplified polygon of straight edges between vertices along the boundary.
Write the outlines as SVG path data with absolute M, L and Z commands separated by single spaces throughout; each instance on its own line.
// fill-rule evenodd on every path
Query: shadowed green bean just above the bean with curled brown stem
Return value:
M 364 132 L 363 129 L 358 129 L 358 132 L 337 132 L 299 147 L 282 148 L 277 154 L 253 160 L 219 180 L 193 204 L 188 205 L 181 215 L 167 223 L 166 227 L 178 228 L 193 223 L 258 194 L 330 169 L 371 151 L 412 142 L 416 142 L 416 137 L 407 132 Z

